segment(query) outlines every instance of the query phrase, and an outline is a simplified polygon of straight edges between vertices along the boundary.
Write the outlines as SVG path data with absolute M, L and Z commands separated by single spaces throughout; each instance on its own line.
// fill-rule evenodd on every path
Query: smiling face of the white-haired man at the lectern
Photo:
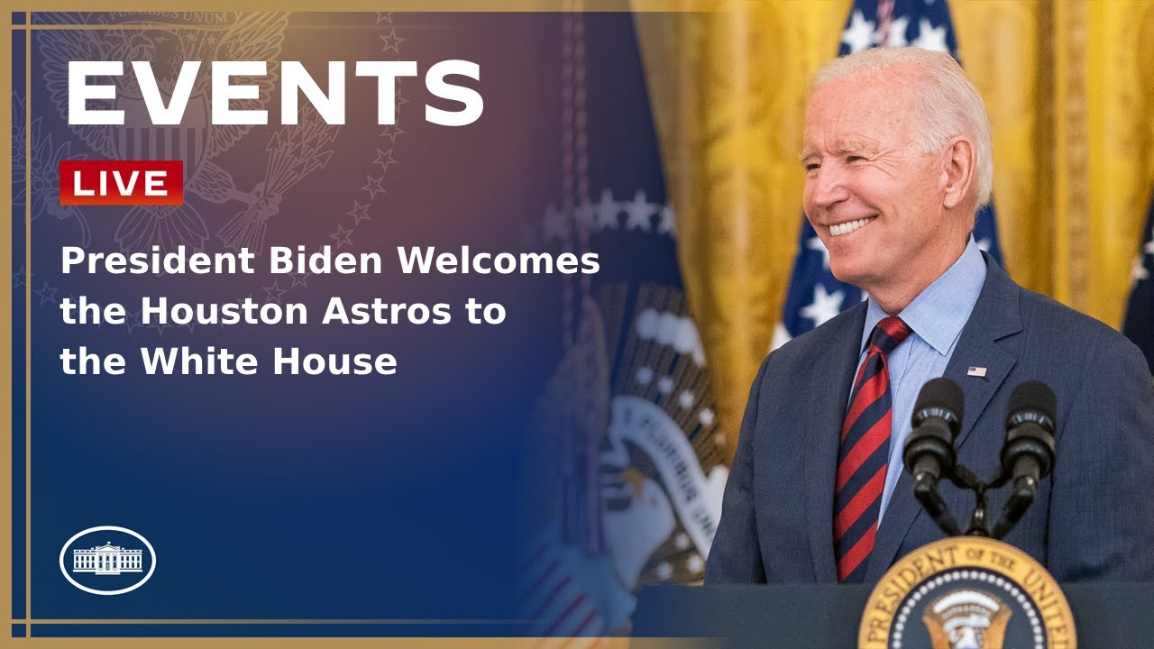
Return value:
M 943 207 L 946 152 L 915 142 L 924 120 L 908 74 L 883 69 L 814 94 L 805 112 L 805 216 L 830 269 L 870 293 L 917 291 L 965 245 L 965 219 Z

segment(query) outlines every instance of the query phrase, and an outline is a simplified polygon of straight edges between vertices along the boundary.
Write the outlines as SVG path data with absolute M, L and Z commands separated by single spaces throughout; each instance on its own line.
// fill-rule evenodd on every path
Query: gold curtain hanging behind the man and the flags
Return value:
M 667 5 L 666 5 L 667 7 Z M 809 76 L 848 0 L 637 14 L 687 292 L 736 447 L 801 225 Z M 1010 274 L 1115 327 L 1154 181 L 1154 0 L 951 2 L 994 127 Z

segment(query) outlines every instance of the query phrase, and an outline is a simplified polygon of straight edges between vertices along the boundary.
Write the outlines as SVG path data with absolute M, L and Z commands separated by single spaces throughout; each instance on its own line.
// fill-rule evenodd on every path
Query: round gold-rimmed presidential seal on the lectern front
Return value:
M 950 537 L 882 577 L 862 614 L 859 649 L 1074 649 L 1057 582 L 1025 552 L 986 537 Z

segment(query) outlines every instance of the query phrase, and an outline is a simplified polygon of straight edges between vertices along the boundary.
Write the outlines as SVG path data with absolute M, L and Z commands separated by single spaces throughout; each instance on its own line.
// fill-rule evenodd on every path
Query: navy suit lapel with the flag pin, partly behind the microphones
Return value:
M 981 418 L 994 393 L 1018 360 L 1013 350 L 1007 349 L 1009 345 L 999 345 L 998 341 L 1021 331 L 1020 289 L 996 262 L 982 254 L 986 256 L 986 283 L 945 368 L 945 376 L 958 383 L 966 395 L 961 430 L 954 442 L 958 448 L 969 437 L 974 423 Z M 968 376 L 972 366 L 986 367 L 986 376 Z M 914 480 L 902 471 L 874 542 L 865 570 L 867 582 L 882 579 L 890 569 L 919 512 L 921 505 L 914 498 Z M 968 521 L 958 523 L 965 525 Z

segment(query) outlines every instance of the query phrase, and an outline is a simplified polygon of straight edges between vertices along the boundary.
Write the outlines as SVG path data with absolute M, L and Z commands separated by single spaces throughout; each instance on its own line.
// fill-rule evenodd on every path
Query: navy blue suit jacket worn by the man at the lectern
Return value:
M 1106 324 L 1027 291 L 989 258 L 945 376 L 966 396 L 958 461 L 994 476 L 1006 402 L 1041 380 L 1058 400 L 1056 461 L 1005 542 L 1058 581 L 1154 580 L 1154 386 L 1146 360 Z M 749 395 L 706 583 L 837 582 L 833 476 L 865 303 L 772 352 Z M 971 366 L 986 376 L 967 376 Z M 1001 515 L 1007 488 L 990 494 Z M 965 525 L 971 492 L 942 483 Z M 943 535 L 904 472 L 882 517 L 867 581 Z

